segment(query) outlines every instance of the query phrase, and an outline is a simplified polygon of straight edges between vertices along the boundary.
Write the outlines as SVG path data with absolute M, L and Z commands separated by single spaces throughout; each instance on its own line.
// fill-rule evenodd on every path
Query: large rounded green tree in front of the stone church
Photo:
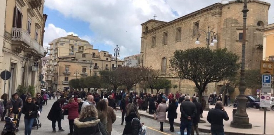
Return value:
M 207 84 L 226 80 L 239 71 L 239 56 L 227 49 L 193 48 L 176 50 L 170 59 L 170 67 L 179 77 L 195 83 L 199 97 Z M 200 100 L 201 98 L 199 98 Z

